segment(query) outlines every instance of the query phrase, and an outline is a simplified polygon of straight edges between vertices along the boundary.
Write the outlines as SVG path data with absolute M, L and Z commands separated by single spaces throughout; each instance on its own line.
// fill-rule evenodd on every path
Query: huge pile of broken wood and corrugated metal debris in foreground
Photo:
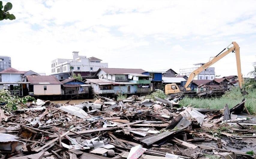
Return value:
M 255 116 L 236 115 L 245 100 L 213 110 L 177 108 L 178 99 L 0 109 L 0 158 L 255 158 Z

